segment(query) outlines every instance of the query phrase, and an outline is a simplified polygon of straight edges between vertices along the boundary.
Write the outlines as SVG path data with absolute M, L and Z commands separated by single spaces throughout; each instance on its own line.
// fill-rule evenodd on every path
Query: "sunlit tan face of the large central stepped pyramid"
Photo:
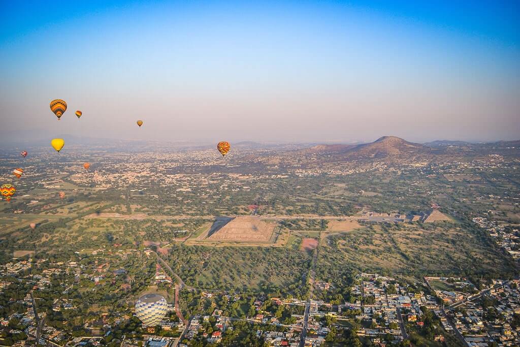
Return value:
M 275 225 L 265 223 L 258 217 L 237 216 L 216 230 L 208 239 L 267 242 L 270 240 L 274 229 Z

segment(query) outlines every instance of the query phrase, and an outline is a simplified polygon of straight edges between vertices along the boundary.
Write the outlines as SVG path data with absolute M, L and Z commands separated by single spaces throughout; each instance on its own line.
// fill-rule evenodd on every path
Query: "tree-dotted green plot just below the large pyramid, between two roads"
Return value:
M 164 256 L 173 271 L 195 288 L 243 292 L 306 294 L 303 274 L 311 258 L 277 247 L 204 247 L 172 245 Z

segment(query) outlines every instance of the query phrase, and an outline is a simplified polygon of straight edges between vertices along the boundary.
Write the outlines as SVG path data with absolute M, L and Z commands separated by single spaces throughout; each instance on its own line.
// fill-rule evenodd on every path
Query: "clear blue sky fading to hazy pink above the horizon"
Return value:
M 514 139 L 519 7 L 1 2 L 0 136 Z

